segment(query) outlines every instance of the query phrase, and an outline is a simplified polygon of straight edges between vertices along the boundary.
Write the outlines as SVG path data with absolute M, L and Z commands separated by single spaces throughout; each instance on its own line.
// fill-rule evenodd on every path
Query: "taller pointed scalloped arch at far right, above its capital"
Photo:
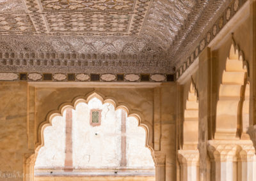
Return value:
M 215 139 L 236 139 L 241 136 L 243 97 L 248 78 L 248 63 L 243 52 L 232 40 L 230 53 L 222 73 L 216 108 Z

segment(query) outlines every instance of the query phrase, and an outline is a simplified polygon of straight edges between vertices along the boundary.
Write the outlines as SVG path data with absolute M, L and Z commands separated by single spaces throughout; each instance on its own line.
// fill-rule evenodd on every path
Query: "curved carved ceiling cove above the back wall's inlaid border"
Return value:
M 0 36 L 0 72 L 174 73 L 161 48 L 124 39 Z

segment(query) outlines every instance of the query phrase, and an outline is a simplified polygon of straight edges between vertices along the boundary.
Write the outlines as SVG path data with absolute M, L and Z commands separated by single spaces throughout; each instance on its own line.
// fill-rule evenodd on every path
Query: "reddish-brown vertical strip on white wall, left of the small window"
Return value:
M 73 170 L 72 160 L 72 109 L 68 108 L 66 111 L 66 157 L 65 157 L 65 171 Z

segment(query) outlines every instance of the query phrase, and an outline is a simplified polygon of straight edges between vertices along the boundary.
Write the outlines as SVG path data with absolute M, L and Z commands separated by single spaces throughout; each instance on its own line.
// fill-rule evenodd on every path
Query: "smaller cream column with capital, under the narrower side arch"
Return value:
M 198 150 L 179 150 L 180 181 L 199 180 Z

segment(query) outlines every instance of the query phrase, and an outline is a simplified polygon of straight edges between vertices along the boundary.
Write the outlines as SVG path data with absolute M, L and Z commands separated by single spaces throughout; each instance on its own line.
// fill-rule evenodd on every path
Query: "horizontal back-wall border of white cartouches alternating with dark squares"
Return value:
M 137 73 L 6 73 L 0 72 L 0 81 L 26 82 L 174 82 L 174 74 Z

